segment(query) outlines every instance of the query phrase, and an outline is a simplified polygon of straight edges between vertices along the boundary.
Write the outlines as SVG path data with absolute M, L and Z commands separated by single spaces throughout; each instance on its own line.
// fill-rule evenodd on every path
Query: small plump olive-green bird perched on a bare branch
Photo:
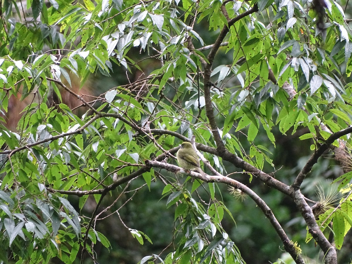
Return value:
M 178 165 L 185 170 L 196 170 L 205 177 L 205 173 L 200 168 L 199 159 L 192 144 L 183 142 L 180 146 L 180 149 L 176 153 Z

